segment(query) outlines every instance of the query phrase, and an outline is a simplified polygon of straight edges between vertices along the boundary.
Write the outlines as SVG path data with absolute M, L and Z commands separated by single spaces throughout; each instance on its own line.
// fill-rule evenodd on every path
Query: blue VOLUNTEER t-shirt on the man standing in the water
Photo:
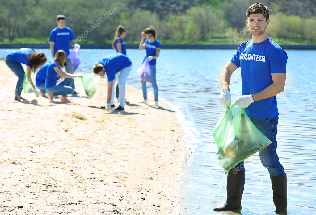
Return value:
M 273 83 L 272 73 L 286 73 L 286 52 L 271 38 L 261 43 L 252 39 L 243 42 L 230 59 L 241 69 L 242 94 L 258 93 Z M 272 118 L 279 116 L 276 96 L 256 101 L 245 109 L 249 118 Z

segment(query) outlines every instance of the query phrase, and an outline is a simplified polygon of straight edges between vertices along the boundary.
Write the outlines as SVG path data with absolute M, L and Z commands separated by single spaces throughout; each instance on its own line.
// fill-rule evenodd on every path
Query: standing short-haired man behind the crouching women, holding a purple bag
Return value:
M 64 50 L 66 52 L 66 55 L 69 55 L 69 49 L 70 45 L 72 47 L 75 46 L 75 35 L 72 32 L 71 28 L 66 27 L 66 17 L 64 15 L 58 15 L 56 17 L 56 23 L 57 27 L 55 27 L 51 31 L 51 35 L 49 38 L 49 41 L 51 42 L 51 53 L 52 53 L 52 59 L 54 59 L 54 56 L 58 50 Z M 65 63 L 65 69 L 68 73 L 73 74 L 74 72 L 72 71 L 72 63 L 71 60 L 66 58 L 66 63 Z M 70 87 L 75 89 L 75 83 L 73 79 L 70 81 Z M 76 94 L 76 93 L 74 93 Z

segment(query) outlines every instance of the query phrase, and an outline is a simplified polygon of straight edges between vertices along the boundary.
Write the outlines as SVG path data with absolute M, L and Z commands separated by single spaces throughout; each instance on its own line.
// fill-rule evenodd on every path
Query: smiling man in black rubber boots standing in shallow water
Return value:
M 262 152 L 259 151 L 259 156 L 270 174 L 275 212 L 282 213 L 287 210 L 287 180 L 276 154 L 276 126 L 279 115 L 276 94 L 284 90 L 287 54 L 266 34 L 270 23 L 266 6 L 261 3 L 252 4 L 246 15 L 252 39 L 243 42 L 222 69 L 222 93 L 219 101 L 226 108 L 230 105 L 230 77 L 240 67 L 243 96 L 236 99 L 236 105 L 245 108 L 253 124 L 272 142 Z M 244 184 L 245 168 L 242 161 L 228 172 L 226 203 L 214 210 L 241 209 Z

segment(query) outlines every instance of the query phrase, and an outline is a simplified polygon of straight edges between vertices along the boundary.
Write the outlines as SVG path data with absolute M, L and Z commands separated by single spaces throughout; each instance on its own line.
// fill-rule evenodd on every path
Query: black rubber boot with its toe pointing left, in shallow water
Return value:
M 245 186 L 245 170 L 230 170 L 227 173 L 227 200 L 222 207 L 214 208 L 214 211 L 232 211 L 241 209 L 241 197 Z

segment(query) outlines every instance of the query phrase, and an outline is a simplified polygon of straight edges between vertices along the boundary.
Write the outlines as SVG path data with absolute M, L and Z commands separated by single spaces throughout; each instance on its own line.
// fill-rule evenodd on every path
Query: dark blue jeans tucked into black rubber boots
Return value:
M 276 126 L 278 124 L 279 117 L 267 118 L 267 119 L 250 119 L 252 123 L 258 128 L 258 130 L 264 134 L 271 144 L 259 151 L 259 157 L 262 165 L 268 169 L 270 176 L 282 176 L 285 174 L 282 164 L 280 164 L 279 157 L 276 154 Z M 234 169 L 244 170 L 244 161 L 237 164 Z

